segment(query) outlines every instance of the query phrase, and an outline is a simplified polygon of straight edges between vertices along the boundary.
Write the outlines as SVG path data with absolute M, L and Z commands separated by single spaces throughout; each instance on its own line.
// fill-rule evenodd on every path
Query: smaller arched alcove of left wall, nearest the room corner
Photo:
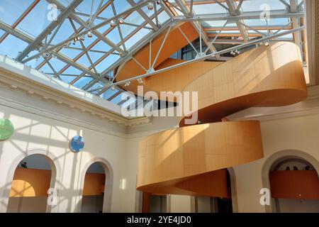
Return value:
M 88 173 L 90 175 L 88 175 Z M 101 179 L 103 175 L 103 179 Z M 88 188 L 88 184 L 85 182 L 89 180 L 94 182 L 94 185 Z M 93 160 L 86 163 L 84 170 L 81 175 L 81 192 L 79 203 L 77 205 L 77 211 L 79 212 L 99 212 L 103 213 L 111 212 L 111 201 L 112 201 L 112 191 L 113 191 L 113 170 L 111 165 L 107 160 L 103 158 L 94 158 Z M 99 186 L 103 185 L 103 189 L 99 189 Z M 97 187 L 96 187 L 97 186 Z M 91 198 L 86 196 L 92 196 Z M 93 197 L 95 196 L 95 197 Z M 101 209 L 97 210 L 99 206 L 95 206 L 94 209 L 89 206 L 86 206 L 91 201 L 99 203 L 99 197 L 102 196 L 103 202 Z M 99 205 L 99 204 L 97 204 Z

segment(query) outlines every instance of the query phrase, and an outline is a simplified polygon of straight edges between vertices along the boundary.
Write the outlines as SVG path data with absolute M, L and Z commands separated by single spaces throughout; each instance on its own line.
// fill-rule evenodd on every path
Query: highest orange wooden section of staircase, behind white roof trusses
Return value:
M 179 26 L 181 31 L 183 31 L 184 35 L 190 40 L 194 41 L 196 38 L 199 37 L 196 29 L 194 26 L 192 26 L 191 23 L 183 23 Z M 162 41 L 164 40 L 164 37 L 166 35 L 166 32 L 162 33 L 161 35 L 157 36 L 154 40 L 152 40 L 151 43 L 151 64 L 155 61 L 155 57 L 157 56 L 157 52 L 159 52 L 159 55 L 157 57 L 157 60 L 154 64 L 155 69 L 160 69 L 169 65 L 174 65 L 176 62 L 182 62 L 182 60 L 174 60 L 174 59 L 169 59 L 170 56 L 172 56 L 175 52 L 183 48 L 184 46 L 188 45 L 188 41 L 186 38 L 184 38 L 183 34 L 179 30 L 177 26 L 173 26 L 167 35 L 167 39 L 162 47 L 162 50 L 159 52 L 159 49 L 162 45 Z M 135 60 L 137 60 L 142 67 L 145 69 L 150 68 L 150 45 L 145 45 L 144 48 L 142 48 L 138 53 L 134 55 Z M 145 70 L 140 67 L 140 65 L 135 62 L 135 60 L 130 60 L 125 63 L 125 65 L 121 65 L 118 67 L 116 72 L 114 74 L 118 73 L 116 80 L 121 81 L 123 79 L 128 79 L 130 77 L 138 76 L 140 74 L 145 74 Z M 195 77 L 195 75 L 200 76 L 201 74 L 207 72 L 208 70 L 211 70 L 211 66 L 207 64 L 202 64 L 202 62 L 198 62 L 198 68 L 200 69 L 199 72 L 193 71 L 191 72 L 194 67 L 189 67 L 188 70 L 186 70 L 187 74 L 184 72 L 177 71 L 176 73 L 176 79 L 174 79 L 173 82 L 170 80 L 170 83 L 164 82 L 164 80 L 159 79 L 161 75 L 166 75 L 167 73 L 162 73 L 155 75 L 157 79 L 152 78 L 152 77 L 147 77 L 144 79 L 143 86 L 144 86 L 144 92 L 148 91 L 165 91 L 165 89 L 171 89 L 172 84 L 176 84 L 178 86 L 177 90 L 181 91 L 189 82 L 191 82 Z M 213 65 L 219 65 L 218 62 L 213 62 L 211 63 Z M 205 70 L 206 68 L 206 70 Z M 190 72 L 190 73 L 189 73 Z M 170 72 L 172 73 L 172 72 Z M 174 77 L 172 77 L 173 79 Z M 180 87 L 179 82 L 183 81 L 184 87 Z M 164 87 L 165 85 L 169 85 L 168 87 Z M 138 87 L 138 82 L 137 81 L 132 81 L 130 86 L 125 87 L 123 84 L 120 85 L 123 89 L 129 90 L 131 92 L 134 92 L 137 94 L 137 87 Z M 158 86 L 158 87 L 157 87 Z

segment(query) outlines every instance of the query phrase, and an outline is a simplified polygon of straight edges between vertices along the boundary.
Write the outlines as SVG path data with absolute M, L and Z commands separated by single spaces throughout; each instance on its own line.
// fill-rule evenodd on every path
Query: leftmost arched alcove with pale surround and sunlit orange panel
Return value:
M 55 157 L 45 150 L 30 150 L 13 161 L 7 173 L 6 189 L 1 203 L 6 212 L 52 212 L 50 193 L 57 197 L 57 167 Z

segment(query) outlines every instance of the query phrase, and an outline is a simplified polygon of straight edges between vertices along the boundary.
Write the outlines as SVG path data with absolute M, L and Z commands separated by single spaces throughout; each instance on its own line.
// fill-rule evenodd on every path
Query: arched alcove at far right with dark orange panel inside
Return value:
M 318 185 L 318 170 L 318 160 L 299 150 L 283 150 L 270 156 L 262 168 L 263 187 L 272 195 L 266 211 L 318 212 L 319 199 L 309 192 L 313 189 L 309 182 Z

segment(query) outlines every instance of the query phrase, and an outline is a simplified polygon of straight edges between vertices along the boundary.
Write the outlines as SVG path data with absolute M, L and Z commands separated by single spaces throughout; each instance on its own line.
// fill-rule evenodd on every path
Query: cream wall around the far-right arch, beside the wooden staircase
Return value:
M 266 211 L 259 203 L 259 191 L 264 187 L 262 167 L 270 156 L 284 150 L 297 150 L 296 153 L 301 151 L 319 160 L 319 114 L 262 121 L 261 126 L 264 158 L 233 167 L 239 212 Z

